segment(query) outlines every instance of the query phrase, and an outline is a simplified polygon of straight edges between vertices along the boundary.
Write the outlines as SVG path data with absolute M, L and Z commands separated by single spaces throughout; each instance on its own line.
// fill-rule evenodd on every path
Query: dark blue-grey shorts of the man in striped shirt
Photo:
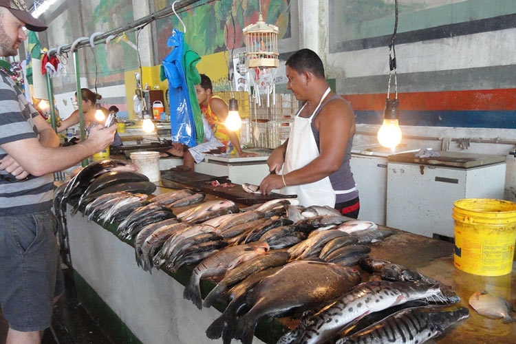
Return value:
M 51 211 L 0 217 L 0 307 L 21 332 L 50 326 L 52 299 L 65 290 Z

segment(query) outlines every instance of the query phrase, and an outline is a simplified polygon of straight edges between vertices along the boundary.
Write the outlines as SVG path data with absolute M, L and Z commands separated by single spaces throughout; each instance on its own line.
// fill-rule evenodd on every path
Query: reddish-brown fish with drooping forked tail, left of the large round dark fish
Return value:
M 257 255 L 263 255 L 269 246 L 266 243 L 230 246 L 204 259 L 193 269 L 189 283 L 184 288 L 184 299 L 191 300 L 197 308 L 202 309 L 200 280 L 221 275 L 238 264 Z

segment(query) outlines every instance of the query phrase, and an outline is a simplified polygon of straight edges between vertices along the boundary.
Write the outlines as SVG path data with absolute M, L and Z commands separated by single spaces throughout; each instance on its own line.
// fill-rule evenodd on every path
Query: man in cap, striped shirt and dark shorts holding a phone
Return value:
M 22 0 L 0 0 L 0 56 L 14 56 L 27 39 L 23 27 L 47 27 Z M 52 304 L 64 291 L 52 205 L 53 172 L 103 151 L 116 125 L 92 128 L 72 147 L 59 147 L 52 127 L 0 71 L 0 308 L 8 344 L 41 343 Z

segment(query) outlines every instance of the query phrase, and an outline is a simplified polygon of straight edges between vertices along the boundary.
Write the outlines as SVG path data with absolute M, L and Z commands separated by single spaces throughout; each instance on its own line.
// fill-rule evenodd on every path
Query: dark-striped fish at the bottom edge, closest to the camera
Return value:
M 340 338 L 336 344 L 420 344 L 439 336 L 447 327 L 468 316 L 469 310 L 465 307 L 453 311 L 409 308 L 396 312 L 360 332 Z

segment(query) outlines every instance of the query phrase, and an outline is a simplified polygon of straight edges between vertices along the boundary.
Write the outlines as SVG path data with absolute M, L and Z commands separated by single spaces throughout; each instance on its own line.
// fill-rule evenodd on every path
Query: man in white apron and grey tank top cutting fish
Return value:
M 269 170 L 276 174 L 268 175 L 260 190 L 264 194 L 273 189 L 295 193 L 303 206 L 334 207 L 338 197 L 345 194 L 356 197 L 358 204 L 353 180 L 351 185 L 344 183 L 350 185 L 345 190 L 334 189 L 332 184 L 336 182 L 330 181 L 331 175 L 341 173 L 347 144 L 354 136 L 351 105 L 330 90 L 323 63 L 312 50 L 299 50 L 290 56 L 286 76 L 287 88 L 303 105 L 294 118 L 289 139 L 268 158 Z M 319 140 L 314 132 L 319 133 Z

